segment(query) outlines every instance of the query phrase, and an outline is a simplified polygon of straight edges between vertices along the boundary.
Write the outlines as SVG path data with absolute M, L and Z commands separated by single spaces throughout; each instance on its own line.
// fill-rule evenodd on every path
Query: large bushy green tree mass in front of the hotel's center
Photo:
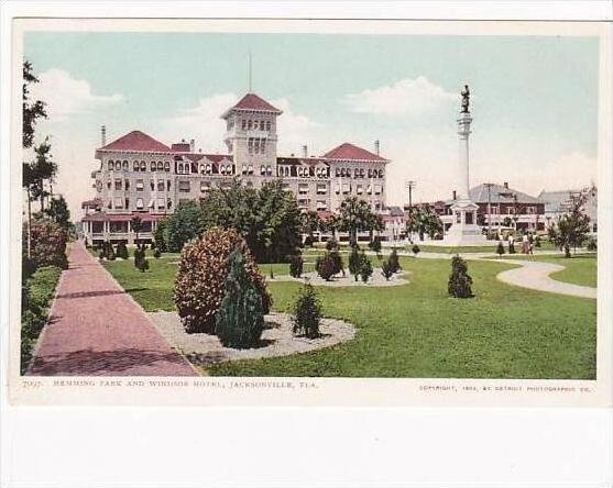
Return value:
M 229 188 L 212 189 L 201 209 L 205 229 L 237 230 L 259 263 L 287 262 L 302 244 L 300 210 L 282 181 L 256 190 L 234 180 Z

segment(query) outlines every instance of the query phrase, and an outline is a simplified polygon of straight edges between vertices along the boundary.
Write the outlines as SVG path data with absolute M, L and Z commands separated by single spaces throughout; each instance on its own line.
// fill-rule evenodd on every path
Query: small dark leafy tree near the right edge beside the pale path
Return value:
M 570 212 L 558 217 L 547 230 L 549 242 L 563 249 L 565 257 L 570 257 L 570 248 L 577 251 L 590 232 L 590 218 L 584 211 L 585 200 L 584 195 L 573 198 Z

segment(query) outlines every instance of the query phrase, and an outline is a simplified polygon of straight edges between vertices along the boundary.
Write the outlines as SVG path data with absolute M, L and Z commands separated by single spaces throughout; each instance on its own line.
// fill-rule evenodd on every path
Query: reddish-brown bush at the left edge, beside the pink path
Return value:
M 41 266 L 68 267 L 66 231 L 50 219 L 32 219 L 30 223 L 30 259 L 28 259 L 28 224 L 23 225 L 23 259 L 29 274 Z M 24 275 L 29 276 L 29 275 Z

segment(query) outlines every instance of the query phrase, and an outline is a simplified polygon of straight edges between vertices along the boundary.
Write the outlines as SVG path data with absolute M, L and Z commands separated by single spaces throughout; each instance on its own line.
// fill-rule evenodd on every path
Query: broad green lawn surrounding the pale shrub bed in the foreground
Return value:
M 358 328 L 327 350 L 204 370 L 218 376 L 457 378 L 595 377 L 595 300 L 557 296 L 495 279 L 512 267 L 469 262 L 475 298 L 447 295 L 449 260 L 402 258 L 411 284 L 390 288 L 318 287 L 327 317 Z M 145 310 L 173 310 L 176 265 L 155 260 L 140 274 L 129 262 L 105 266 Z M 280 265 L 281 266 L 281 265 Z M 273 282 L 274 308 L 288 311 L 300 285 Z

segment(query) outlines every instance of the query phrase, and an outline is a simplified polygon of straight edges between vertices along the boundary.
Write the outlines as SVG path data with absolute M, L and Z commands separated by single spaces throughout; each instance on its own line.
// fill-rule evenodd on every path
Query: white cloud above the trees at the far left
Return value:
M 47 114 L 52 121 L 63 121 L 68 115 L 90 112 L 123 100 L 121 93 L 95 95 L 87 80 L 75 79 L 62 69 L 44 71 L 39 80 L 31 87 L 32 98 L 47 103 Z

